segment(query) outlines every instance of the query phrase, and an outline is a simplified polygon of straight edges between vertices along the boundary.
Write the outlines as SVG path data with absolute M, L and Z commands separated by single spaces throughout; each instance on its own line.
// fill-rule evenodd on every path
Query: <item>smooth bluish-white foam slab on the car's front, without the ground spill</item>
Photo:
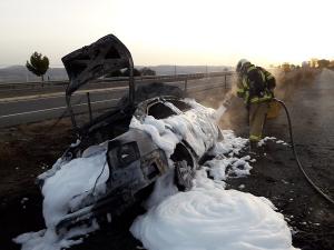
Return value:
M 45 197 L 43 217 L 48 228 L 55 227 L 67 214 L 73 197 L 91 191 L 105 164 L 106 152 L 89 158 L 73 159 L 46 180 L 42 194 Z M 109 168 L 104 168 L 96 191 L 104 192 L 108 177 Z

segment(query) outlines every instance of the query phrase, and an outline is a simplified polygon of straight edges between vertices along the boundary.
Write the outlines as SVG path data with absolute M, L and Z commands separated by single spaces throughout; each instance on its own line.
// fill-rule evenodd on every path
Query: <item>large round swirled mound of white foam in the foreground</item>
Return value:
M 136 219 L 131 233 L 149 250 L 288 250 L 281 213 L 250 193 L 216 188 L 179 192 Z

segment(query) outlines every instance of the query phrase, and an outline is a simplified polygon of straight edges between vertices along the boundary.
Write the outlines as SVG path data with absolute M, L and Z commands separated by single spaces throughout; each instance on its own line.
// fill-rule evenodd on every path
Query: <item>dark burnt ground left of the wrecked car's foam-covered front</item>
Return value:
M 68 121 L 55 128 L 53 123 L 0 130 L 0 249 L 20 249 L 11 242 L 12 237 L 43 227 L 36 177 L 52 166 L 72 141 Z

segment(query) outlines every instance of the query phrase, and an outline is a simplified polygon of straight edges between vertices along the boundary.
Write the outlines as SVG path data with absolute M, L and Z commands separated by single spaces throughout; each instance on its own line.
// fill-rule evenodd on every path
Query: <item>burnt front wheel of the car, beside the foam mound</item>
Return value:
M 193 188 L 195 169 L 188 166 L 187 161 L 177 161 L 175 163 L 176 186 L 180 191 L 188 191 Z

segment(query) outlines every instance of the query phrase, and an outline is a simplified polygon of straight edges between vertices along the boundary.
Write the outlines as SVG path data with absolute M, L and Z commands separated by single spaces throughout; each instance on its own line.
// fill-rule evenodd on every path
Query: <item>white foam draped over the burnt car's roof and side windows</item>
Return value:
M 209 150 L 218 139 L 216 126 L 217 113 L 214 109 L 205 108 L 194 100 L 186 99 L 193 109 L 178 116 L 157 120 L 147 116 L 143 122 L 135 117 L 130 128 L 144 130 L 149 133 L 155 143 L 163 149 L 169 158 L 177 143 L 186 140 L 198 157 Z M 168 103 L 168 107 L 174 107 Z M 177 109 L 174 107 L 174 109 Z

